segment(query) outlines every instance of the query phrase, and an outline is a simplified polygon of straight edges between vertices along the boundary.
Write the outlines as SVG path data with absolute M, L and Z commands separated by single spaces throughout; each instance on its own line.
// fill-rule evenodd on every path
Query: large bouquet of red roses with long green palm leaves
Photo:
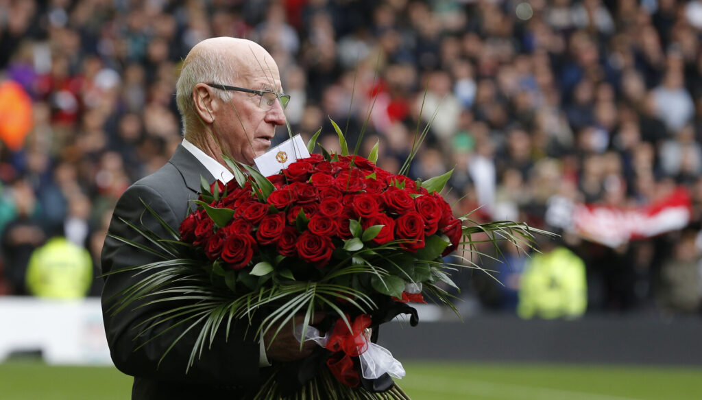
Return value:
M 398 314 L 409 314 L 416 324 L 407 303 L 425 297 L 453 308 L 444 289 L 455 286 L 448 272 L 470 263 L 446 264 L 442 257 L 473 251 L 473 234 L 530 240 L 531 231 L 510 221 L 477 225 L 454 217 L 439 195 L 450 173 L 413 181 L 376 167 L 375 150 L 370 160 L 345 149 L 322 153 L 267 177 L 227 160 L 235 179 L 203 181 L 197 209 L 179 231 L 166 226 L 175 240 L 134 226 L 164 261 L 128 269 L 159 273 L 126 290 L 116 307 L 151 295 L 192 299 L 192 307 L 146 322 L 173 318 L 199 327 L 191 363 L 233 320 L 248 318 L 252 334 L 260 335 L 277 333 L 303 315 L 298 337 L 317 341 L 319 351 L 295 366 L 305 373 L 293 379 L 278 368 L 256 399 L 322 399 L 329 393 L 405 399 L 390 379 L 402 378 L 401 364 L 373 343 L 378 330 L 371 335 L 367 328 Z M 312 328 L 316 311 L 332 317 Z

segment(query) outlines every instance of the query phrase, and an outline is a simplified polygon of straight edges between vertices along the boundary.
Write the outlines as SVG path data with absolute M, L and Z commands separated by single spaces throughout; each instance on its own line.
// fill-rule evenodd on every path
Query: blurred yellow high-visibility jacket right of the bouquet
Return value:
M 576 254 L 557 247 L 527 262 L 519 287 L 519 316 L 575 318 L 585 313 L 587 304 L 585 263 Z

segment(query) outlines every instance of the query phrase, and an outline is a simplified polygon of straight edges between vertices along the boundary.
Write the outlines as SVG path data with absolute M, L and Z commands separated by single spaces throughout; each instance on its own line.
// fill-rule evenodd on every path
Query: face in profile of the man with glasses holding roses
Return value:
M 256 66 L 260 70 L 260 66 Z M 249 79 L 227 84 L 246 89 L 281 93 L 280 77 L 275 65 L 269 71 L 254 73 Z M 253 164 L 253 158 L 265 153 L 275 136 L 275 128 L 285 124 L 285 115 L 279 101 L 267 110 L 265 100 L 259 106 L 258 94 L 230 91 L 232 99 L 223 103 L 216 112 L 215 129 L 224 137 L 234 160 Z

